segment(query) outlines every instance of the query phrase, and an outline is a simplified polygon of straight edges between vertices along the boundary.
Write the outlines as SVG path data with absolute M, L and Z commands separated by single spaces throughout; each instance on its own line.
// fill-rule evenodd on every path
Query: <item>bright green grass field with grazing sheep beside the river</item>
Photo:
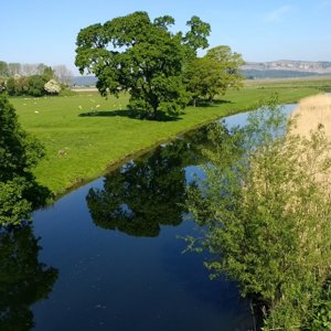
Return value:
M 128 95 L 106 100 L 97 93 L 87 92 L 67 97 L 11 98 L 11 103 L 23 128 L 46 148 L 46 158 L 35 169 L 36 179 L 55 194 L 63 194 L 139 151 L 204 122 L 253 109 L 256 102 L 275 92 L 279 93 L 280 103 L 296 103 L 318 94 L 325 84 L 321 87 L 320 81 L 306 86 L 297 83 L 277 85 L 275 82 L 258 85 L 254 82 L 241 90 L 228 92 L 222 98 L 224 103 L 189 107 L 173 121 L 129 118 L 126 111 Z M 93 116 L 82 116 L 84 113 Z

